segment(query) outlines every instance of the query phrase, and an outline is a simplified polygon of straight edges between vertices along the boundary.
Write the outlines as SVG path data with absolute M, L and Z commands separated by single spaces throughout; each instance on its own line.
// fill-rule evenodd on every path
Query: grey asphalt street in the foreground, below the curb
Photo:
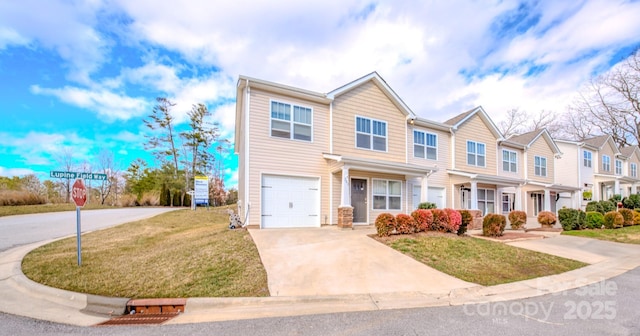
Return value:
M 0 335 L 640 335 L 640 269 L 491 304 L 164 326 L 76 327 L 0 313 Z

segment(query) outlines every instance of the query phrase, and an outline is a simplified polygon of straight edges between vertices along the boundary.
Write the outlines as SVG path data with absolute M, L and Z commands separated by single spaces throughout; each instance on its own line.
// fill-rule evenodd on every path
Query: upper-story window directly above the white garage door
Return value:
M 311 141 L 312 111 L 308 107 L 271 102 L 271 136 Z

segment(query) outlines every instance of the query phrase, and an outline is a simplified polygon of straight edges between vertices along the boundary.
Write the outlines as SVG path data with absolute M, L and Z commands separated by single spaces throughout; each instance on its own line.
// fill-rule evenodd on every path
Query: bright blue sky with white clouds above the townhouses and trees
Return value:
M 159 96 L 179 127 L 204 103 L 233 139 L 241 74 L 329 92 L 378 71 L 436 121 L 564 113 L 640 46 L 638 17 L 617 0 L 0 1 L 0 175 L 46 178 L 65 152 L 153 165 L 142 119 Z M 233 186 L 237 159 L 221 159 Z

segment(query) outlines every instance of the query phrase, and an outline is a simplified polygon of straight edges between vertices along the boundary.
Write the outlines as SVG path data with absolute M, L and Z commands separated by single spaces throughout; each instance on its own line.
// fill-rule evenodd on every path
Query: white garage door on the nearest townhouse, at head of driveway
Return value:
M 318 178 L 263 175 L 262 227 L 320 227 Z

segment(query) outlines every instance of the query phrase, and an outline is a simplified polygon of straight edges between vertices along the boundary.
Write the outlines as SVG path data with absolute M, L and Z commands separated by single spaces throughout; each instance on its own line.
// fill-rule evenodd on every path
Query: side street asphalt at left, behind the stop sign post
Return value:
M 81 211 L 82 232 L 152 217 L 172 208 L 122 208 Z M 76 233 L 76 212 L 0 217 L 0 251 Z M 1 331 L 0 331 L 1 332 Z

